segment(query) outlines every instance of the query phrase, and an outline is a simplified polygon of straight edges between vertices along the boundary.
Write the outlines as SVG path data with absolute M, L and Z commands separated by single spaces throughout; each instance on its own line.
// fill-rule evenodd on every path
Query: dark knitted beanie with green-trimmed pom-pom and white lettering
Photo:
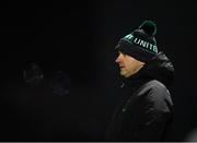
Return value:
M 155 34 L 155 23 L 144 21 L 132 33 L 120 38 L 116 49 L 139 61 L 149 62 L 158 53 Z

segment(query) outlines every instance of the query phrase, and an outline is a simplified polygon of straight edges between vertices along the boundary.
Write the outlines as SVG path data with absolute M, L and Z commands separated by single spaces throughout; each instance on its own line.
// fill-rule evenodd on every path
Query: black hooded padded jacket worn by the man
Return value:
M 115 109 L 107 141 L 165 141 L 173 119 L 167 90 L 173 79 L 173 64 L 163 52 L 126 79 L 127 96 Z

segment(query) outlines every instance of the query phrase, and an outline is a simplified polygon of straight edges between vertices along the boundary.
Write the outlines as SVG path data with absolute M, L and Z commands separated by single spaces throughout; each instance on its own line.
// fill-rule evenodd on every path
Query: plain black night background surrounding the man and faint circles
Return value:
M 157 41 L 174 63 L 171 141 L 197 127 L 196 7 L 189 1 L 7 1 L 1 4 L 0 141 L 104 141 L 120 99 L 114 47 L 144 20 L 158 25 Z M 30 62 L 44 72 L 39 86 L 24 83 Z M 53 93 L 57 71 L 70 92 Z

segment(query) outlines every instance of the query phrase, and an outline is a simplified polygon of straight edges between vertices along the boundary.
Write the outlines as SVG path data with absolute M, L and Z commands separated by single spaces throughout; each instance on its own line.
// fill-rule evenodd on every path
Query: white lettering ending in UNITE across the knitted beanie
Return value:
M 134 36 L 131 34 L 129 34 L 129 35 L 125 36 L 125 38 L 131 39 L 131 38 L 134 38 Z M 158 47 L 155 45 L 152 45 L 152 44 L 146 41 L 146 40 L 142 40 L 142 39 L 136 37 L 132 40 L 132 43 L 158 53 Z

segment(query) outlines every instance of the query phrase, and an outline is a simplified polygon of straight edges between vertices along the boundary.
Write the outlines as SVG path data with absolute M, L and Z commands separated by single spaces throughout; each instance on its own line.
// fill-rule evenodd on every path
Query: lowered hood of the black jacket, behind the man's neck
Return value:
M 170 86 L 174 80 L 174 72 L 173 63 L 163 51 L 160 51 L 138 73 L 129 78 L 129 81 L 158 80 L 165 86 Z

